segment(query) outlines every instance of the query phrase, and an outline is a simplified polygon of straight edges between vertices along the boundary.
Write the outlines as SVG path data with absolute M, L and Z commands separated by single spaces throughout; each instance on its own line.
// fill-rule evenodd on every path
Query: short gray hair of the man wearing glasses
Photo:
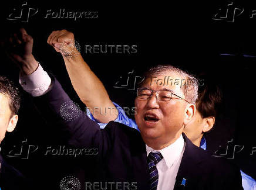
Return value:
M 190 103 L 196 103 L 197 100 L 197 91 L 198 91 L 198 81 L 197 79 L 188 74 L 188 72 L 180 70 L 173 65 L 157 65 L 155 67 L 151 67 L 148 71 L 144 73 L 144 77 L 151 78 L 156 77 L 164 72 L 174 72 L 181 76 L 184 80 L 186 80 L 185 85 L 181 85 L 181 91 L 183 92 L 185 99 Z M 181 81 L 182 83 L 182 81 Z

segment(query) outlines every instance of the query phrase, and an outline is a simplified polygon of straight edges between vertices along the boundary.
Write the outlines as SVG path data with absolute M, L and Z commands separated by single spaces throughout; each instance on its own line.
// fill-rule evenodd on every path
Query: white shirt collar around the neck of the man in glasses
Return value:
M 153 148 L 147 146 L 146 144 L 146 151 L 147 151 L 147 156 L 151 151 L 153 152 L 160 152 L 161 155 L 164 157 L 163 160 L 166 162 L 167 167 L 171 167 L 175 161 L 181 156 L 181 153 L 183 152 L 184 149 L 184 139 L 182 135 L 178 137 L 176 141 L 174 141 L 173 144 L 170 144 L 169 146 L 161 149 L 161 150 L 154 150 Z

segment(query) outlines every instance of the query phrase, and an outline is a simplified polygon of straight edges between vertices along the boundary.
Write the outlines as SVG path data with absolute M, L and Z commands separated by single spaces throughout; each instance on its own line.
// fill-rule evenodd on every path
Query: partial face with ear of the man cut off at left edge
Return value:
M 0 93 L 0 143 L 5 137 L 5 133 L 12 132 L 18 121 L 18 116 L 11 118 L 11 109 L 9 107 L 9 98 Z

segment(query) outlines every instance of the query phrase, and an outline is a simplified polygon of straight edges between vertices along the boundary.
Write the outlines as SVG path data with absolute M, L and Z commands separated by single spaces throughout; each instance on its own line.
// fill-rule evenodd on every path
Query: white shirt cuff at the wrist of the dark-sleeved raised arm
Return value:
M 51 89 L 52 80 L 47 72 L 38 63 L 38 68 L 29 75 L 22 75 L 19 72 L 19 84 L 22 88 L 32 96 L 41 96 Z

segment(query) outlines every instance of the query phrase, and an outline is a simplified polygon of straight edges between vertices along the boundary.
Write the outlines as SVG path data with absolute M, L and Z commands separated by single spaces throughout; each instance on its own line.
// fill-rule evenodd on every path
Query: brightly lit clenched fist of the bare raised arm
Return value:
M 73 58 L 80 54 L 76 47 L 74 34 L 68 30 L 53 31 L 48 37 L 47 43 L 61 53 L 64 58 Z

